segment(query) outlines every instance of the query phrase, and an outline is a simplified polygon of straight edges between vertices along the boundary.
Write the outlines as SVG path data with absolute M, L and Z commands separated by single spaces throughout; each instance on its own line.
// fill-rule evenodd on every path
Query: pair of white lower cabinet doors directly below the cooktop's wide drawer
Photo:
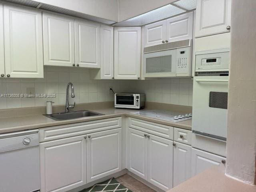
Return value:
M 128 129 L 128 170 L 162 190 L 172 188 L 173 141 Z

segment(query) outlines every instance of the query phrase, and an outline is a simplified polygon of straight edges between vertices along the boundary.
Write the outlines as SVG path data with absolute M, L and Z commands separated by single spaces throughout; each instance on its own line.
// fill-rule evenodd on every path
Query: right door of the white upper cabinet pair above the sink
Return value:
M 100 68 L 100 25 L 75 20 L 76 66 Z

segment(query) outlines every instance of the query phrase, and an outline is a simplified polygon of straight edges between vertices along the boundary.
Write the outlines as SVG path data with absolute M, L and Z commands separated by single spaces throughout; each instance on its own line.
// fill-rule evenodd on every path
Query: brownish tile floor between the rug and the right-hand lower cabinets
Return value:
M 132 192 L 156 192 L 155 190 L 149 188 L 148 186 L 134 179 L 132 176 L 128 174 L 122 175 L 116 178 L 116 180 L 120 182 L 122 185 L 126 186 Z

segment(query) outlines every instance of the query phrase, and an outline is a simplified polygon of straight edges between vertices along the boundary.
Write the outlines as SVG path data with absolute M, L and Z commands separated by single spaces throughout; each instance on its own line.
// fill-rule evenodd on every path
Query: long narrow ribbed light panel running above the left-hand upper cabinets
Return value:
M 16 3 L 16 4 L 21 4 L 21 5 L 25 5 L 25 6 L 30 6 L 30 7 L 34 7 L 34 8 L 40 8 L 40 9 L 43 9 L 43 10 L 53 11 L 53 12 L 57 12 L 57 13 L 67 14 L 67 15 L 70 15 L 70 16 L 84 18 L 84 19 L 87 19 L 87 20 L 92 20 L 92 21 L 95 21 L 95 22 L 100 22 L 100 23 L 109 24 L 109 25 L 115 23 L 115 21 L 111 21 L 111 20 L 99 18 L 99 17 L 96 17 L 96 16 L 92 16 L 92 15 L 88 15 L 88 14 L 68 10 L 68 9 L 65 9 L 65 8 L 60 8 L 60 7 L 49 5 L 49 4 L 39 3 L 39 2 L 36 2 L 36 1 L 32 1 L 32 0 L 4 0 L 4 1 L 11 2 L 11 3 Z

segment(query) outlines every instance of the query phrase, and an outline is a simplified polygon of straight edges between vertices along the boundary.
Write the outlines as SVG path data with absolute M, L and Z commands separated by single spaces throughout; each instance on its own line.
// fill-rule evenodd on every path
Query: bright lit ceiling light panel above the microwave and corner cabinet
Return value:
M 161 19 L 165 19 L 186 12 L 176 6 L 168 4 L 142 15 L 114 24 L 115 26 L 141 26 Z

